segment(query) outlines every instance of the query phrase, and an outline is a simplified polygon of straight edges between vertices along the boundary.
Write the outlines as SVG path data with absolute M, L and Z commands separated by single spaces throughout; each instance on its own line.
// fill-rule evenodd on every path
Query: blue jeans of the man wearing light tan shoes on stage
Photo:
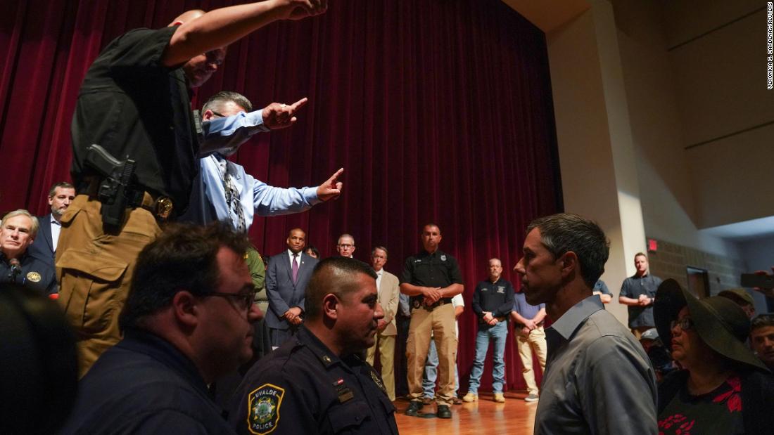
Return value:
M 492 370 L 491 389 L 494 393 L 502 393 L 505 384 L 505 338 L 508 336 L 508 322 L 501 321 L 495 326 L 479 325 L 476 333 L 476 356 L 471 369 L 471 379 L 467 393 L 478 394 L 481 385 L 481 374 L 484 372 L 484 360 L 489 348 L 489 341 L 495 341 L 494 365 Z

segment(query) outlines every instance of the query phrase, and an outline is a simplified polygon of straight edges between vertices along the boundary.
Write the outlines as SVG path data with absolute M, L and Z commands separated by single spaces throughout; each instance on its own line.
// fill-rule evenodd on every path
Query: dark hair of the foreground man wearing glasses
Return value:
M 137 257 L 119 327 L 142 327 L 143 318 L 169 307 L 179 291 L 196 296 L 217 291 L 218 251 L 225 247 L 244 256 L 248 246 L 244 233 L 236 233 L 223 223 L 166 226 Z

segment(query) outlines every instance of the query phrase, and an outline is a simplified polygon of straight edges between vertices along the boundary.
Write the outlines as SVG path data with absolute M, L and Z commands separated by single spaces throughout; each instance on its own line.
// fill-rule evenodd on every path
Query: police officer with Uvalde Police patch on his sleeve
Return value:
M 374 345 L 376 275 L 330 257 L 315 267 L 298 333 L 252 366 L 229 422 L 238 433 L 398 433 L 378 372 L 359 354 Z

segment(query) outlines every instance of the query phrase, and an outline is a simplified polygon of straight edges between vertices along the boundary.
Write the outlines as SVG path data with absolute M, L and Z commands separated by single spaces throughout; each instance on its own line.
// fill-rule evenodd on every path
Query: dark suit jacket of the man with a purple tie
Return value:
M 312 270 L 317 265 L 317 259 L 302 253 L 300 260 L 298 280 L 293 284 L 293 269 L 290 267 L 288 250 L 269 257 L 269 267 L 266 267 L 266 296 L 269 297 L 269 310 L 266 311 L 265 318 L 269 328 L 289 328 L 290 324 L 283 318 L 283 314 L 293 307 L 304 309 L 304 293 L 307 291 Z

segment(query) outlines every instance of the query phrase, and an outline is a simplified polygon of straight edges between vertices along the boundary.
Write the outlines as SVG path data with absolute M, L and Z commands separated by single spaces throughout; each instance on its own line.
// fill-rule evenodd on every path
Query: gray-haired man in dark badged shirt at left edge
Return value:
M 57 292 L 53 268 L 28 252 L 37 233 L 38 219 L 27 210 L 14 210 L 3 216 L 0 225 L 0 282 L 15 282 L 53 294 Z

